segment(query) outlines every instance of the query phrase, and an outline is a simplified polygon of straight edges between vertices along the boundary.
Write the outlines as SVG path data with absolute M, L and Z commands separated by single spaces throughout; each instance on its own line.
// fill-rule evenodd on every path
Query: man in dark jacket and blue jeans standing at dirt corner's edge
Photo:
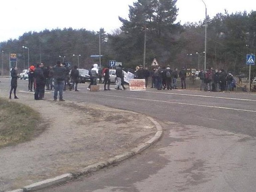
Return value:
M 57 61 L 57 65 L 53 68 L 53 78 L 54 78 L 54 101 L 57 101 L 57 96 L 59 92 L 59 101 L 65 101 L 63 99 L 63 87 L 65 81 L 66 69 L 61 66 L 61 62 Z

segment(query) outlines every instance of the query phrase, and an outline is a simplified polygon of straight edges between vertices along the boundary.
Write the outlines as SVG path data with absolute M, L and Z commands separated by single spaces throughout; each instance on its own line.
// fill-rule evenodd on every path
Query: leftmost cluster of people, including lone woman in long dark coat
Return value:
M 63 65 L 60 61 L 57 61 L 56 65 L 44 67 L 44 63 L 37 64 L 37 66 L 31 65 L 29 67 L 28 74 L 28 90 L 32 92 L 34 88 L 34 99 L 42 100 L 44 99 L 45 90 L 54 89 L 54 101 L 57 100 L 59 94 L 59 101 L 65 101 L 63 99 L 63 90 L 66 90 L 66 85 L 69 86 L 69 90 L 74 87 L 75 91 L 78 91 L 77 84 L 79 80 L 79 71 L 77 66 L 74 66 L 70 74 L 72 78 L 73 85 L 69 83 L 69 68 Z M 18 99 L 16 95 L 17 89 L 17 79 L 19 75 L 17 73 L 17 67 L 14 67 L 11 71 L 11 90 L 9 99 L 12 97 L 12 91 L 14 93 L 14 98 Z M 46 89 L 45 89 L 46 87 Z

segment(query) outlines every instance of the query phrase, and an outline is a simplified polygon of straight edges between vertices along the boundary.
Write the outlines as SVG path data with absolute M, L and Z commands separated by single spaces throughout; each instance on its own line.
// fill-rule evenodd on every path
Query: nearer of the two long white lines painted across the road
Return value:
M 227 109 L 227 110 L 233 110 L 233 111 L 244 111 L 244 112 L 254 112 L 254 113 L 256 113 L 256 111 L 253 111 L 253 110 L 246 110 L 246 109 L 236 109 L 236 108 L 218 107 L 218 106 L 211 106 L 211 105 L 198 105 L 198 104 L 191 104 L 191 103 L 180 103 L 180 102 L 171 102 L 171 101 L 161 101 L 161 100 L 143 99 L 143 98 L 136 98 L 136 97 L 124 97 L 124 96 L 118 96 L 118 95 L 105 95 L 105 94 L 92 93 L 92 92 L 88 92 L 88 93 L 89 93 L 89 94 L 95 94 L 95 95 L 109 96 L 109 97 L 120 97 L 120 98 L 126 98 L 126 99 L 136 99 L 136 100 L 143 100 L 143 101 L 154 101 L 154 102 L 161 102 L 161 103 L 170 103 L 170 104 L 179 104 L 179 105 L 189 105 L 189 106 L 197 106 L 197 107 L 209 107 L 209 108 Z

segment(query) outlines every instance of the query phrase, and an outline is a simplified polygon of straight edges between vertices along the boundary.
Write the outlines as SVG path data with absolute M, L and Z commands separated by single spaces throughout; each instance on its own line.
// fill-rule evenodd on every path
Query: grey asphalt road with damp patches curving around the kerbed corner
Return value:
M 0 90 L 9 89 L 1 80 Z M 256 188 L 256 95 L 196 90 L 64 92 L 64 99 L 128 109 L 155 118 L 160 142 L 91 176 L 41 191 L 246 191 Z M 18 94 L 27 81 L 19 80 Z M 53 99 L 52 92 L 45 97 Z

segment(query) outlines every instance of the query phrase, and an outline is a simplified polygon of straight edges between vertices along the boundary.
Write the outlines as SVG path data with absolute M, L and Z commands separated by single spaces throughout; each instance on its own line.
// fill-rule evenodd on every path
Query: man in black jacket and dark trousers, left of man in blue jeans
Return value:
M 42 63 L 38 64 L 34 72 L 34 77 L 36 80 L 35 100 L 42 100 L 44 96 L 45 77 L 42 67 Z

